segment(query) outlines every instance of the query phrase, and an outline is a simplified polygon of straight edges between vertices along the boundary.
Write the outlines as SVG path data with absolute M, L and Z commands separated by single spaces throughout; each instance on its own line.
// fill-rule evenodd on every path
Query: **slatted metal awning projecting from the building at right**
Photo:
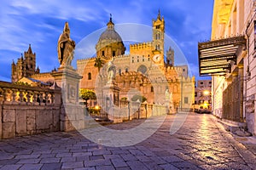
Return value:
M 220 40 L 198 43 L 200 76 L 224 75 L 231 69 L 231 61 L 236 64 L 239 48 L 245 47 L 246 38 L 229 37 Z

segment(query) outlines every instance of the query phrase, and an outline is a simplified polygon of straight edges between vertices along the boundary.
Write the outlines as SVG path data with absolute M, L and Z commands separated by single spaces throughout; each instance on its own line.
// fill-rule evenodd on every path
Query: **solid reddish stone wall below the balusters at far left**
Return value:
M 59 106 L 3 104 L 1 110 L 3 139 L 60 130 Z

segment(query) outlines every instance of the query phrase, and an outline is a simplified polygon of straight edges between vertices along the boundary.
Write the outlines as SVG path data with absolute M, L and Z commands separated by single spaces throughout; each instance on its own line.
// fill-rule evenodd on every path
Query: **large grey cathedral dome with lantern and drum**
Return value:
M 125 54 L 125 45 L 119 33 L 114 30 L 112 17 L 110 17 L 107 26 L 107 30 L 102 32 L 96 44 L 97 55 L 113 57 L 115 55 Z

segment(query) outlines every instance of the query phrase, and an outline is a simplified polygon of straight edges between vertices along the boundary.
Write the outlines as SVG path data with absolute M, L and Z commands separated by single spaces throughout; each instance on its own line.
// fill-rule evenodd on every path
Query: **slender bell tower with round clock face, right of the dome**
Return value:
M 160 10 L 156 20 L 152 21 L 152 30 L 153 60 L 158 65 L 164 65 L 165 20 L 160 16 Z

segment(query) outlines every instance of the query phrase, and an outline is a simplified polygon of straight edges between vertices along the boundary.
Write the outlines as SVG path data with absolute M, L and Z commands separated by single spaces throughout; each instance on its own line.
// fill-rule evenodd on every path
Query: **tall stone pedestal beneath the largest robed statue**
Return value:
M 56 85 L 61 88 L 60 130 L 84 129 L 84 111 L 79 105 L 79 80 L 82 77 L 70 65 L 61 66 L 51 75 L 55 78 Z M 55 102 L 59 103 L 56 100 Z

